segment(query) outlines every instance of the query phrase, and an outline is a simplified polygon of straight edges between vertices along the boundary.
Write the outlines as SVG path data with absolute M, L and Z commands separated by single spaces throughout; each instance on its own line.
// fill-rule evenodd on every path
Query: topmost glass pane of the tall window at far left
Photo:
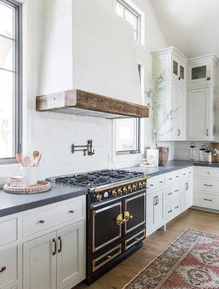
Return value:
M 14 10 L 0 3 L 0 34 L 13 38 Z

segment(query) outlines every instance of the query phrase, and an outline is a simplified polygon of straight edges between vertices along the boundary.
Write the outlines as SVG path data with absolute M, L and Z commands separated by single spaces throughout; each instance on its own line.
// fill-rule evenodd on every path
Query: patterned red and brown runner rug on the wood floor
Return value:
M 123 289 L 219 289 L 219 235 L 185 230 Z

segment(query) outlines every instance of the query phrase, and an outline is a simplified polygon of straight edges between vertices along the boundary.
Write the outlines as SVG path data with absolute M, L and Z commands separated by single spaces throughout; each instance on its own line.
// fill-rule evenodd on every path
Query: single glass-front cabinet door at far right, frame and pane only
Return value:
M 210 62 L 202 62 L 188 66 L 188 82 L 208 80 L 210 77 Z

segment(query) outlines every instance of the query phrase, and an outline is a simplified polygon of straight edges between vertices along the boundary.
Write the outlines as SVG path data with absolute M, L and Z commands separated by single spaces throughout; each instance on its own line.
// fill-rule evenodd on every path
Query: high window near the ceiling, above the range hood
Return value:
M 123 0 L 116 1 L 116 12 L 133 25 L 135 40 L 140 42 L 141 15 Z

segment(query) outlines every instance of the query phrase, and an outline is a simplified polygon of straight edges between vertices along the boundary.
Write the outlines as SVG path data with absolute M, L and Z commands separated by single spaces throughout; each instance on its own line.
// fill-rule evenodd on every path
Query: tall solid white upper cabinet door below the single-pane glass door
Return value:
M 209 87 L 188 91 L 188 139 L 210 139 Z

